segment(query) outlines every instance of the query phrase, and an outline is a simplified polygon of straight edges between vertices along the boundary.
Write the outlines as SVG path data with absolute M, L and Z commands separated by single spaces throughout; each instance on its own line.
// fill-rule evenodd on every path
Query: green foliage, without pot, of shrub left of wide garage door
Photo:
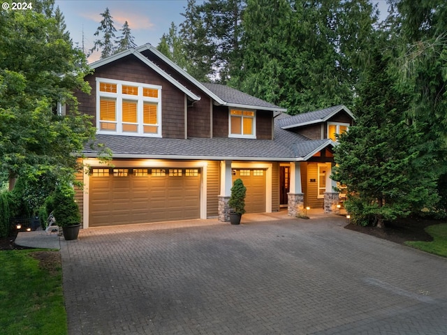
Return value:
M 78 204 L 75 202 L 75 191 L 71 186 L 60 186 L 54 192 L 52 208 L 57 225 L 78 225 L 81 221 Z

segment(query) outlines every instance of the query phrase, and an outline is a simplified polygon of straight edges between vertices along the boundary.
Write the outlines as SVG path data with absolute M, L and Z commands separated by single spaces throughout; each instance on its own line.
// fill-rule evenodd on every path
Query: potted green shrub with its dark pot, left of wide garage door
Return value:
M 75 191 L 70 186 L 61 186 L 54 192 L 54 218 L 62 227 L 64 239 L 78 239 L 81 215 L 75 202 Z

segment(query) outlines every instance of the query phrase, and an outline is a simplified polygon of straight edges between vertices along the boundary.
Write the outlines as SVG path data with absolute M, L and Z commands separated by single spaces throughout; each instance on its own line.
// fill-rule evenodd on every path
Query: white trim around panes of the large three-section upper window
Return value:
M 117 93 L 109 93 L 109 92 L 101 92 L 99 90 L 99 84 L 100 82 L 107 82 L 110 84 L 117 84 Z M 138 87 L 138 96 L 131 96 L 122 94 L 122 85 L 129 85 L 129 86 L 136 86 Z M 158 98 L 150 98 L 147 96 L 142 95 L 142 89 L 157 89 L 159 91 Z M 99 111 L 100 111 L 100 98 L 114 98 L 116 99 L 116 106 L 117 106 L 117 130 L 116 131 L 104 131 L 101 130 L 100 125 L 100 117 L 99 117 Z M 138 124 L 138 131 L 136 133 L 129 133 L 129 132 L 123 132 L 122 131 L 122 113 L 119 112 L 119 106 L 122 106 L 122 101 L 137 101 L 137 124 Z M 143 132 L 143 103 L 155 103 L 157 106 L 157 121 L 158 124 L 156 125 L 157 133 L 144 133 Z M 152 84 L 143 84 L 141 82 L 128 82 L 124 80 L 112 80 L 108 78 L 101 78 L 96 77 L 96 132 L 98 134 L 105 134 L 105 135 L 124 135 L 124 136 L 141 136 L 141 137 L 161 137 L 161 86 L 159 85 L 152 85 Z

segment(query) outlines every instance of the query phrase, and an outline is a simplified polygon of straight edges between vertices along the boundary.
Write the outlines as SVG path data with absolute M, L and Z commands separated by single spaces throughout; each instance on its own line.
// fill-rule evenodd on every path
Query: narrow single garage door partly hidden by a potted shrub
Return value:
M 236 169 L 232 171 L 233 182 L 240 178 L 247 188 L 245 211 L 247 213 L 265 212 L 265 170 Z

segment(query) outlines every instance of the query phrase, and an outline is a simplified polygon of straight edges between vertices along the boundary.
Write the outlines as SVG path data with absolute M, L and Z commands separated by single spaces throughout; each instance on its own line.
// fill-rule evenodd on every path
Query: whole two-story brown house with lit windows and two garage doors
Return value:
M 343 105 L 289 116 L 220 84 L 200 83 L 152 45 L 91 64 L 91 94 L 79 110 L 93 117 L 103 163 L 86 148 L 84 228 L 218 217 L 228 221 L 233 181 L 247 187 L 247 213 L 334 211 L 329 178 L 335 133 L 353 115 Z

